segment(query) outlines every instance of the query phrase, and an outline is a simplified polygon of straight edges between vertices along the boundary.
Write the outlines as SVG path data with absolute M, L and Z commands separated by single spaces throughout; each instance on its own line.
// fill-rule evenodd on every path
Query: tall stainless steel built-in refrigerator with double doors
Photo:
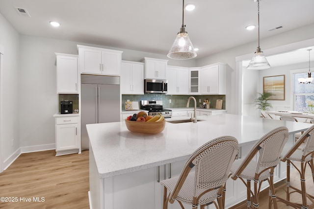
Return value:
M 120 76 L 81 74 L 81 149 L 89 149 L 86 124 L 120 121 Z

